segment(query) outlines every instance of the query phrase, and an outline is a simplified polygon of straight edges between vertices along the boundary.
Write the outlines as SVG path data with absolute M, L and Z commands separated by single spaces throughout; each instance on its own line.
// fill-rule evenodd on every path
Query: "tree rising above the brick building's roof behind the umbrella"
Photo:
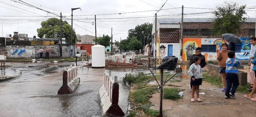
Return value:
M 214 12 L 216 19 L 212 26 L 213 32 L 217 35 L 238 32 L 241 22 L 246 19 L 243 18 L 246 14 L 245 7 L 246 5 L 239 6 L 233 2 L 224 2 L 222 6 L 217 6 L 217 11 Z

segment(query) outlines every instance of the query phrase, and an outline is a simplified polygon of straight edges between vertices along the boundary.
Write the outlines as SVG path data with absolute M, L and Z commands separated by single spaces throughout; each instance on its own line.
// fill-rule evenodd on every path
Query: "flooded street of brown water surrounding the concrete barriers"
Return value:
M 80 85 L 75 93 L 57 95 L 58 89 L 62 86 L 64 67 L 70 64 L 74 65 L 74 62 L 6 63 L 7 66 L 11 66 L 7 69 L 19 71 L 21 75 L 15 79 L 0 82 L 0 117 L 101 116 L 98 90 L 103 85 L 104 72 L 109 70 L 79 68 L 77 77 L 80 78 Z M 112 76 L 118 77 L 119 104 L 126 113 L 129 88 L 122 85 L 121 79 L 126 73 L 137 73 L 143 70 L 130 68 L 111 68 L 110 70 Z

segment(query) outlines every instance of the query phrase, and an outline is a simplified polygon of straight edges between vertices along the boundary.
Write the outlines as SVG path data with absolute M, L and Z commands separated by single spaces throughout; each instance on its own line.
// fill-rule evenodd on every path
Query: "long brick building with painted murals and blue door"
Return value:
M 202 47 L 202 54 L 207 60 L 216 60 L 216 52 L 221 49 L 220 45 L 225 41 L 221 35 L 213 35 L 210 31 L 213 21 L 213 18 L 184 19 L 183 39 L 181 39 L 181 19 L 158 19 L 157 35 L 155 35 L 155 22 L 153 23 L 152 49 L 157 53 L 156 56 L 174 55 L 186 61 L 190 60 L 196 47 Z M 255 35 L 255 22 L 255 18 L 248 18 L 241 23 L 241 29 L 236 34 L 242 42 L 242 45 L 236 45 L 237 59 L 249 59 L 248 39 L 251 35 Z

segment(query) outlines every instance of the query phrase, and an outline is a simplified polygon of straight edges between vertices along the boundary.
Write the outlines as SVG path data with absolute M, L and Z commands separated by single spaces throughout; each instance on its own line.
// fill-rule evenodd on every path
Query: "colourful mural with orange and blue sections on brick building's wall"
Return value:
M 249 60 L 250 49 L 251 49 L 249 38 L 240 38 L 240 40 L 242 42 L 241 49 L 240 49 L 240 52 L 236 52 L 236 59 Z M 195 51 L 194 48 L 201 47 L 202 45 L 216 45 L 215 52 L 202 52 L 202 55 L 205 56 L 206 61 L 217 60 L 217 52 L 222 49 L 221 45 L 223 43 L 227 43 L 227 42 L 220 38 L 184 38 L 182 60 L 184 61 L 190 60 L 191 50 L 193 50 L 193 53 L 194 53 Z

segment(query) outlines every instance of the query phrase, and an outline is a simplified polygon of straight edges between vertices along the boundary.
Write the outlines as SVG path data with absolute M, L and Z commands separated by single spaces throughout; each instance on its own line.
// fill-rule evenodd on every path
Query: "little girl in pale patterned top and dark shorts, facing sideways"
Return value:
M 199 86 L 202 85 L 203 82 L 203 75 L 202 75 L 202 68 L 200 66 L 200 57 L 195 56 L 192 60 L 193 64 L 189 68 L 189 75 L 191 76 L 190 84 L 192 85 L 192 98 L 191 102 L 195 102 L 194 94 L 195 94 L 195 88 L 197 91 L 197 101 L 201 102 L 202 100 L 199 98 Z

